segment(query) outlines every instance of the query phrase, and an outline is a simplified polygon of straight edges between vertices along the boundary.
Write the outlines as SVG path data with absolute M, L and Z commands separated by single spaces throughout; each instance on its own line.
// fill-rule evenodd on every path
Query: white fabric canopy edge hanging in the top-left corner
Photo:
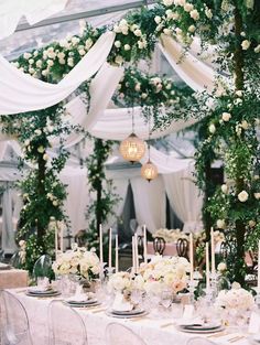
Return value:
M 1 0 L 0 1 L 0 40 L 11 35 L 24 15 L 33 25 L 65 9 L 68 0 Z

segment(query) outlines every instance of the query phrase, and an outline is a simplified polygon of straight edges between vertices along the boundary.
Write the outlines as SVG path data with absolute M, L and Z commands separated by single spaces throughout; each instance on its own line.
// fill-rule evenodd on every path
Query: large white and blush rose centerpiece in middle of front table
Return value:
M 164 289 L 177 293 L 187 287 L 191 266 L 185 258 L 156 256 L 149 263 L 141 263 L 134 285 L 148 293 L 158 294 Z

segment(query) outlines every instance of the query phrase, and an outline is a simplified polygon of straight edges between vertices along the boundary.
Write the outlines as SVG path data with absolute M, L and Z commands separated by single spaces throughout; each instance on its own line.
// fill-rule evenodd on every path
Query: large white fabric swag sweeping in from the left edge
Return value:
M 104 33 L 58 84 L 33 78 L 0 55 L 0 114 L 26 112 L 58 104 L 101 67 L 111 50 L 113 40 L 115 33 Z

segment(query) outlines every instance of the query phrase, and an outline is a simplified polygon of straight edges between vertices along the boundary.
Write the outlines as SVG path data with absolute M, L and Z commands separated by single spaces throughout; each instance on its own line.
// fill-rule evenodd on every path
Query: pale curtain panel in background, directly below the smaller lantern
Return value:
M 145 224 L 150 233 L 165 227 L 165 191 L 162 176 L 152 182 L 143 177 L 131 179 L 136 216 L 139 224 Z

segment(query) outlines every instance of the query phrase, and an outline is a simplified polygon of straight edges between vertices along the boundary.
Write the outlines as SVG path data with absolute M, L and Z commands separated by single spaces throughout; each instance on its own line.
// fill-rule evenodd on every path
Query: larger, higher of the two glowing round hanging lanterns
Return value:
M 119 147 L 122 158 L 131 163 L 140 161 L 145 153 L 145 143 L 142 139 L 131 133 Z

